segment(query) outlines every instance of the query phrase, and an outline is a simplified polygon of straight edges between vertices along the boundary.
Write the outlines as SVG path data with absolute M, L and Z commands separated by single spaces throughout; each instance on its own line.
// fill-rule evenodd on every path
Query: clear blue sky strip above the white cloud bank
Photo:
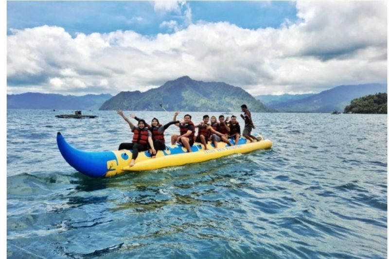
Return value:
M 188 9 L 192 23 L 229 22 L 247 29 L 278 28 L 285 19 L 297 19 L 295 2 L 290 1 L 188 1 L 179 10 L 165 12 L 155 10 L 151 1 L 8 1 L 7 34 L 42 25 L 63 27 L 73 36 L 116 30 L 173 33 L 161 24 L 175 21 L 186 28 Z

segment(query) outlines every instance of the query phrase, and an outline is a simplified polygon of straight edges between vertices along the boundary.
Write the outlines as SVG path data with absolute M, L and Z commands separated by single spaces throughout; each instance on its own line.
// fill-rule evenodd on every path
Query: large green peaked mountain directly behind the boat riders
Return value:
M 260 101 L 255 100 L 240 87 L 221 82 L 195 81 L 188 76 L 168 81 L 146 92 L 120 92 L 107 100 L 100 110 L 148 110 L 159 111 L 240 111 L 247 104 L 252 112 L 269 112 Z

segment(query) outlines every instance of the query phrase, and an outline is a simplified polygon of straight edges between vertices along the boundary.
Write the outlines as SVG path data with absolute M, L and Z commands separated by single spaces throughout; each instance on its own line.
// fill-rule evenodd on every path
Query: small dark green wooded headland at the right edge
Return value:
M 345 113 L 387 114 L 388 94 L 376 93 L 356 98 L 344 108 Z

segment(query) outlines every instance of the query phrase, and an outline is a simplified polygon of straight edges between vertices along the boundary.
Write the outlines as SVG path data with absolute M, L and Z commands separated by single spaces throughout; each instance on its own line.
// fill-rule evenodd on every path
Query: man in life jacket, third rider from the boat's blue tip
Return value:
M 173 121 L 177 121 L 178 111 L 174 113 Z M 172 145 L 176 143 L 176 141 L 188 150 L 188 152 L 192 152 L 191 146 L 195 142 L 195 124 L 191 121 L 192 116 L 189 114 L 185 114 L 184 121 L 175 123 L 177 127 L 179 127 L 180 135 L 172 136 Z

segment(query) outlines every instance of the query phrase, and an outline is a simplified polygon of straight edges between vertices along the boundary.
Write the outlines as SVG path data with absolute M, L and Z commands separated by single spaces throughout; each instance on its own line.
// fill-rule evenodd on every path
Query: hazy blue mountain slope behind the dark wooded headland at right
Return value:
M 387 92 L 386 84 L 364 84 L 336 86 L 318 94 L 300 99 L 269 105 L 270 108 L 286 112 L 332 112 L 343 111 L 351 100 L 369 94 Z

